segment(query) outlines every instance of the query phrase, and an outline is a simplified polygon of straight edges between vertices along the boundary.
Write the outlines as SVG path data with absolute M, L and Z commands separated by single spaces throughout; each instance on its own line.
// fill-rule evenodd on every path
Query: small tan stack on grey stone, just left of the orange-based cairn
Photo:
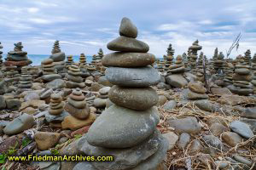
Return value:
M 61 93 L 50 95 L 49 110 L 45 113 L 45 119 L 53 127 L 61 127 L 61 122 L 68 116 L 67 111 L 64 111 L 64 105 Z

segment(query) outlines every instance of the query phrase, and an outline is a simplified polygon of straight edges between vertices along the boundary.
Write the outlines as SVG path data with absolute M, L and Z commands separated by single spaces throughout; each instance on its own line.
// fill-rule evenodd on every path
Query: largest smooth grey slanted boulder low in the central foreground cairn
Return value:
M 106 148 L 131 147 L 147 139 L 159 121 L 155 107 L 134 111 L 112 105 L 91 125 L 88 143 Z

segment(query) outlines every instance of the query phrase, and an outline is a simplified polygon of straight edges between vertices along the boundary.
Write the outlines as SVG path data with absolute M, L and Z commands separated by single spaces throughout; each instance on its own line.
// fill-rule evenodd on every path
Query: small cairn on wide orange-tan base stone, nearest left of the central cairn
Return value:
M 63 129 L 77 130 L 90 125 L 96 119 L 95 114 L 90 114 L 90 107 L 86 105 L 84 94 L 79 88 L 74 89 L 68 96 L 65 110 L 70 116 L 65 117 L 61 123 Z

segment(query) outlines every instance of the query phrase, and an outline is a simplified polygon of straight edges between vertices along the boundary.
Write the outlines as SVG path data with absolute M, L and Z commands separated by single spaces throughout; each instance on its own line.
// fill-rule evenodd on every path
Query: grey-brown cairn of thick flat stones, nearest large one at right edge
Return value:
M 233 74 L 233 85 L 228 86 L 230 91 L 234 94 L 249 95 L 253 94 L 253 75 L 251 74 L 250 65 L 240 58 L 239 63 L 235 66 L 235 73 Z

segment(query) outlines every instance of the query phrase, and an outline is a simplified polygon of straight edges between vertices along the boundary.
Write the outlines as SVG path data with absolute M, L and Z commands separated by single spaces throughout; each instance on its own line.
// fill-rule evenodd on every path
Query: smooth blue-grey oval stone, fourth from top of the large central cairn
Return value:
M 139 68 L 108 67 L 109 82 L 124 87 L 148 87 L 160 82 L 160 74 L 151 66 Z

